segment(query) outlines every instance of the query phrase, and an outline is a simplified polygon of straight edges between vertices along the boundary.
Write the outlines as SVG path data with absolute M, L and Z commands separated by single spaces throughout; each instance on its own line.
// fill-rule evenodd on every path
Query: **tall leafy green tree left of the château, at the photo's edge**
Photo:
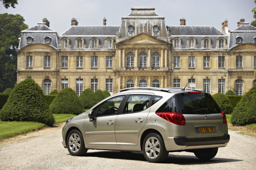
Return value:
M 27 29 L 24 18 L 0 14 L 0 92 L 13 88 L 17 81 L 17 52 L 21 31 Z

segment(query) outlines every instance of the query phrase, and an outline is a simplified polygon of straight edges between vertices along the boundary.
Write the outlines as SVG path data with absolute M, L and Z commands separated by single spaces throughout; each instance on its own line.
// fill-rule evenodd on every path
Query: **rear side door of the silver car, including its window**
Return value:
M 124 102 L 122 113 L 115 121 L 117 145 L 138 145 L 138 135 L 146 124 L 149 114 L 149 101 L 153 94 L 129 94 Z

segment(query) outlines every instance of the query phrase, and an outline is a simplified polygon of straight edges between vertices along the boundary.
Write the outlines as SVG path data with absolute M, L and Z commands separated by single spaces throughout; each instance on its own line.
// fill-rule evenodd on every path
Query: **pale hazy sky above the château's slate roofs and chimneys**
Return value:
M 62 34 L 76 18 L 78 25 L 120 26 L 121 17 L 131 12 L 131 7 L 155 7 L 158 15 L 165 16 L 166 25 L 179 25 L 186 19 L 186 25 L 214 26 L 220 31 L 227 19 L 228 29 L 237 28 L 241 18 L 251 23 L 256 7 L 254 0 L 18 0 L 15 8 L 6 9 L 0 1 L 0 14 L 20 14 L 29 28 L 47 18 L 50 28 Z

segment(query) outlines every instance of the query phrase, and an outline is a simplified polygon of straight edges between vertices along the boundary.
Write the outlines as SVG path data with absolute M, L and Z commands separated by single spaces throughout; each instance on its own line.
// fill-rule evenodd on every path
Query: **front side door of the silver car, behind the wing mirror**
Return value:
M 116 145 L 115 121 L 125 95 L 112 97 L 93 108 L 94 120 L 84 121 L 87 145 Z

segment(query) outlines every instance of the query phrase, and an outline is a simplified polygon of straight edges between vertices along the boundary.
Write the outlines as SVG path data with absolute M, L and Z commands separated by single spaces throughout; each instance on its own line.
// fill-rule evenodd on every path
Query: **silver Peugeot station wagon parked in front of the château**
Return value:
M 176 87 L 120 90 L 69 118 L 62 137 L 74 156 L 88 149 L 142 151 L 153 163 L 181 151 L 212 159 L 230 139 L 226 116 L 210 94 Z

